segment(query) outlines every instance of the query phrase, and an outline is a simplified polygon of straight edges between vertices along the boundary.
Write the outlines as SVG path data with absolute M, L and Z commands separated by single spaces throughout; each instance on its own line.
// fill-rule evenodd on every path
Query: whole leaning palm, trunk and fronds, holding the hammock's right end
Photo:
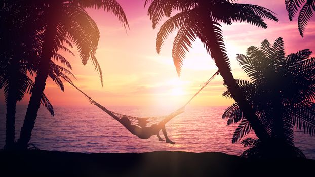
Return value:
M 146 0 L 145 5 L 149 2 L 151 1 Z M 174 10 L 180 12 L 170 17 Z M 251 105 L 245 99 L 233 78 L 219 22 L 227 25 L 232 22 L 247 22 L 258 27 L 267 28 L 263 18 L 278 21 L 273 16 L 273 12 L 261 6 L 237 4 L 226 0 L 152 0 L 148 8 L 148 15 L 152 20 L 153 28 L 156 27 L 163 16 L 170 17 L 161 26 L 157 34 L 156 49 L 158 53 L 167 36 L 179 28 L 173 42 L 173 59 L 178 75 L 181 71 L 182 61 L 191 47 L 192 41 L 198 38 L 204 43 L 205 48 L 219 68 L 224 83 L 232 93 L 233 99 L 240 105 L 255 133 L 261 140 L 267 139 L 267 132 L 263 129 Z

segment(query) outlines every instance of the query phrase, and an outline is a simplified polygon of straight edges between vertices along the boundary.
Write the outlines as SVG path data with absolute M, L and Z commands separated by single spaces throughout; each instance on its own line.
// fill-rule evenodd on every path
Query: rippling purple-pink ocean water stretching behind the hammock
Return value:
M 0 147 L 5 144 L 5 106 L 0 106 Z M 55 106 L 55 117 L 40 108 L 30 143 L 42 150 L 83 153 L 125 153 L 150 151 L 223 152 L 241 155 L 240 143 L 231 143 L 235 125 L 226 125 L 221 115 L 226 107 L 187 106 L 184 113 L 166 124 L 169 138 L 176 144 L 139 139 L 96 106 Z M 107 109 L 137 117 L 163 116 L 175 108 L 108 106 Z M 16 139 L 23 124 L 26 106 L 17 106 Z M 164 139 L 162 131 L 161 137 Z M 250 134 L 250 137 L 255 137 Z M 295 130 L 295 145 L 307 158 L 315 159 L 315 136 Z

